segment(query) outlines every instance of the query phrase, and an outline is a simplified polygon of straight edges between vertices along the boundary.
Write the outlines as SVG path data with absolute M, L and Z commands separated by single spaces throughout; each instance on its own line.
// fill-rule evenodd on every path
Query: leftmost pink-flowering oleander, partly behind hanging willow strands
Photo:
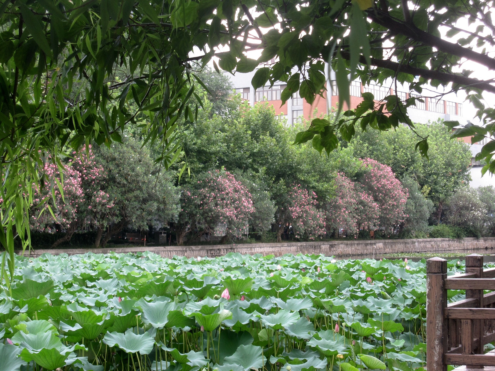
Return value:
M 70 240 L 84 222 L 81 214 L 85 199 L 81 178 L 70 163 L 62 166 L 50 157 L 46 159 L 41 178 L 43 182 L 34 191 L 30 226 L 39 232 L 65 232 L 52 247 Z

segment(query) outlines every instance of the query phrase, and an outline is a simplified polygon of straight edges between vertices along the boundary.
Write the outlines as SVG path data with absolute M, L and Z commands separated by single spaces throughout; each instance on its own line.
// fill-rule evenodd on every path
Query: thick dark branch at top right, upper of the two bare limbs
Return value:
M 495 59 L 488 55 L 478 53 L 458 44 L 449 43 L 448 41 L 442 40 L 437 36 L 420 30 L 414 25 L 397 22 L 390 15 L 383 13 L 378 9 L 370 9 L 367 11 L 367 14 L 368 17 L 370 17 L 374 22 L 386 27 L 395 35 L 401 34 L 407 36 L 417 42 L 434 46 L 443 52 L 467 58 L 473 62 L 495 70 Z

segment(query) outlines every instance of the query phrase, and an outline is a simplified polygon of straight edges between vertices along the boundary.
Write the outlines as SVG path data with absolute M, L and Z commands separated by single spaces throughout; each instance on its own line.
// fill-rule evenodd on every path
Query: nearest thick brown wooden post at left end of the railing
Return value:
M 426 273 L 426 368 L 428 371 L 446 371 L 447 321 L 444 310 L 447 293 L 444 281 L 447 278 L 447 261 L 442 258 L 428 259 Z

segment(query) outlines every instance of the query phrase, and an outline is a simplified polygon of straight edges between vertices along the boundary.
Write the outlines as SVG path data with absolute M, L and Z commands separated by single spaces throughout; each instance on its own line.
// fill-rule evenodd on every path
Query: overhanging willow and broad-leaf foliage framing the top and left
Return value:
M 495 86 L 470 78 L 462 60 L 495 69 L 491 56 L 473 49 L 494 44 L 491 2 L 435 0 L 408 6 L 398 0 L 4 0 L 0 242 L 11 257 L 10 273 L 14 236 L 24 247 L 29 244 L 28 210 L 47 152 L 61 166 L 58 154 L 67 145 L 78 149 L 92 140 L 121 141 L 132 123 L 145 143 L 160 144 L 158 160 L 168 168 L 181 152 L 174 136 L 178 119 L 194 121 L 201 105 L 194 85 L 202 82 L 195 73 L 214 54 L 220 68 L 237 73 L 276 57 L 257 70 L 252 83 L 257 88 L 287 82 L 283 100 L 297 91 L 308 102 L 322 94 L 323 61 L 336 71 L 340 107 L 348 100 L 349 73 L 362 82 L 390 77 L 418 94 L 428 83 L 451 84 L 453 91 L 469 94 L 486 124 L 459 128 L 454 136 L 490 136 L 495 109 L 481 103 L 481 93 L 495 92 Z M 461 18 L 478 25 L 477 32 L 456 42 L 441 38 L 439 26 L 453 36 Z M 229 50 L 219 52 L 219 45 Z M 262 49 L 261 57 L 247 58 L 246 52 L 256 49 Z M 336 133 L 350 139 L 359 118 L 363 129 L 387 130 L 399 123 L 414 129 L 406 107 L 421 97 L 390 95 L 376 102 L 370 93 L 363 96 L 364 102 L 338 122 L 313 120 L 296 142 L 312 140 L 314 148 L 330 153 L 338 145 Z M 417 148 L 427 155 L 426 137 Z M 495 170 L 494 150 L 491 140 L 478 156 L 488 161 L 484 171 Z

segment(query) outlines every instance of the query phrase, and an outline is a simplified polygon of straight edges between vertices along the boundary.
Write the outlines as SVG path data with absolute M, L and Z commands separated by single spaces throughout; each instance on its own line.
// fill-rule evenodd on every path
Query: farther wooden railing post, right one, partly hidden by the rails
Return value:
M 466 256 L 466 273 L 474 273 L 476 275 L 476 278 L 483 278 L 482 255 L 471 254 Z M 478 308 L 483 308 L 483 290 L 466 290 L 466 299 L 469 298 L 478 299 L 478 303 L 479 303 Z M 485 346 L 484 336 L 485 336 L 485 320 L 474 320 L 472 337 L 477 337 L 478 339 L 480 339 L 477 343 L 473 344 L 474 353 L 483 354 L 484 346 Z M 483 366 L 475 366 L 475 367 L 472 366 L 472 368 L 483 369 Z

